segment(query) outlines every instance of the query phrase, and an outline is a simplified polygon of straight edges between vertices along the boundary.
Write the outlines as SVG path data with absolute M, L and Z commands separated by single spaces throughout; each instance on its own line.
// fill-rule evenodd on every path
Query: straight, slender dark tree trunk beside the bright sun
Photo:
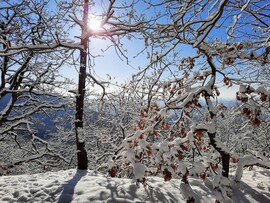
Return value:
M 84 1 L 83 10 L 83 33 L 87 32 L 88 23 L 88 0 Z M 85 150 L 85 135 L 83 130 L 83 114 L 84 114 L 84 96 L 85 96 L 85 78 L 86 78 L 86 65 L 87 65 L 87 50 L 88 38 L 82 39 L 81 44 L 83 49 L 80 50 L 80 72 L 78 81 L 78 93 L 76 96 L 76 115 L 75 115 L 75 133 L 77 144 L 77 168 L 86 170 L 88 168 L 87 152 Z

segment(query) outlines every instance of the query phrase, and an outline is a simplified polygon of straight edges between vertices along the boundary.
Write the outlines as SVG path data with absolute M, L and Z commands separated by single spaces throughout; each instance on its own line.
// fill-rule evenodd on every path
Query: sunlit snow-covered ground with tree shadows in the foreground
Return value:
M 184 202 L 180 180 L 164 182 L 148 177 L 148 186 L 129 179 L 110 178 L 93 171 L 66 170 L 33 175 L 0 177 L 0 202 Z M 196 202 L 215 202 L 210 181 L 203 183 L 190 178 Z M 233 202 L 270 202 L 270 171 L 254 168 L 245 170 L 240 183 L 232 181 Z

